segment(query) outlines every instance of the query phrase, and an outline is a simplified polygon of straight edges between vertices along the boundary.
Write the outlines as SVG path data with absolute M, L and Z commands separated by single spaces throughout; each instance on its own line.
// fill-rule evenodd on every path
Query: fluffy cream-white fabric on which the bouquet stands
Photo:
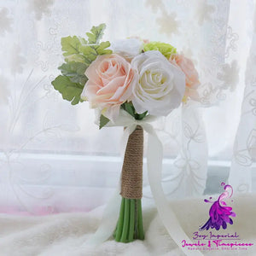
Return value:
M 208 218 L 210 204 L 202 199 L 172 201 L 183 230 L 192 239 L 193 232 Z M 256 244 L 256 195 L 240 195 L 232 203 L 236 218 L 227 230 L 237 233 L 241 242 Z M 0 255 L 184 255 L 168 236 L 154 207 L 143 209 L 144 241 L 115 242 L 112 239 L 94 249 L 83 243 L 100 224 L 102 209 L 86 213 L 61 213 L 44 217 L 20 217 L 0 214 Z M 203 252 L 204 255 L 256 255 L 256 245 L 246 251 Z

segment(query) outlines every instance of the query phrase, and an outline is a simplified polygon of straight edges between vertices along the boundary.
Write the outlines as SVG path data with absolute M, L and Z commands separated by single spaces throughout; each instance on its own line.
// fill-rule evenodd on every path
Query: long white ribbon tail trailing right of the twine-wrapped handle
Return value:
M 146 127 L 145 127 L 146 128 Z M 163 158 L 163 147 L 159 138 L 157 137 L 153 128 L 145 129 L 148 131 L 148 181 L 152 195 L 154 197 L 157 211 L 160 215 L 166 230 L 172 237 L 173 241 L 177 243 L 177 246 L 183 250 L 186 255 L 203 255 L 199 251 L 189 252 L 187 248 L 182 247 L 182 241 L 185 240 L 188 243 L 192 243 L 189 236 L 185 234 L 182 227 L 177 220 L 175 213 L 172 211 L 170 203 L 166 200 L 162 185 L 161 185 L 161 169 Z

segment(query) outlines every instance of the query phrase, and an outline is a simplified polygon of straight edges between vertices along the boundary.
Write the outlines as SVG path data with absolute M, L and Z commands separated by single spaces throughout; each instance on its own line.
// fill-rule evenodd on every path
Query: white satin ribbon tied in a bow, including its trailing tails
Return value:
M 120 110 L 119 118 L 115 122 L 109 122 L 110 126 L 124 126 L 126 127 L 123 137 L 123 142 L 127 142 L 129 135 L 136 129 L 137 125 L 141 125 L 144 131 L 148 132 L 148 181 L 152 195 L 154 197 L 157 211 L 160 215 L 166 230 L 172 239 L 177 243 L 186 255 L 203 255 L 200 251 L 189 251 L 187 248 L 182 247 L 182 241 L 186 240 L 187 243 L 192 243 L 189 236 L 185 234 L 180 226 L 175 213 L 170 207 L 170 203 L 166 200 L 166 196 L 161 185 L 161 171 L 162 171 L 162 158 L 163 147 L 160 139 L 157 137 L 154 128 L 148 122 L 155 120 L 153 116 L 147 116 L 143 120 L 134 119 L 131 114 Z M 117 220 L 119 218 L 119 206 L 121 196 L 119 195 L 119 189 L 115 192 L 112 199 L 108 202 L 106 210 L 103 214 L 102 224 L 96 231 L 96 234 L 92 238 L 85 242 L 88 246 L 100 245 L 103 241 L 108 240 L 113 235 L 113 231 L 116 227 Z

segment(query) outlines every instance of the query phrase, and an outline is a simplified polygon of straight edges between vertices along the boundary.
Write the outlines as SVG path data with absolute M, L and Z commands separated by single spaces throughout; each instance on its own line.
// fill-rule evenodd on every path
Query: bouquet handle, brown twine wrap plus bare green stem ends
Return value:
M 140 125 L 129 136 L 125 148 L 120 195 L 122 202 L 113 234 L 115 241 L 143 240 L 143 127 Z

